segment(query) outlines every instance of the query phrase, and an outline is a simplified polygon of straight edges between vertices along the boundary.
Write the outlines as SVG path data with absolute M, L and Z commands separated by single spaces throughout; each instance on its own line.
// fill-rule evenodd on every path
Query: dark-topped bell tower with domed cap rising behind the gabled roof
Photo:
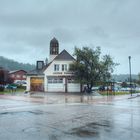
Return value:
M 58 40 L 54 37 L 50 41 L 50 62 L 59 54 L 59 43 Z

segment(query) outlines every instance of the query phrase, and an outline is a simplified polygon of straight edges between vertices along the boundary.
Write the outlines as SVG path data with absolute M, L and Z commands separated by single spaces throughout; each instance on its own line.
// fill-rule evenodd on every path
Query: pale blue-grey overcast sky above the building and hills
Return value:
M 117 74 L 140 72 L 140 0 L 0 0 L 0 56 L 35 64 L 49 56 L 56 37 L 60 51 L 101 46 Z

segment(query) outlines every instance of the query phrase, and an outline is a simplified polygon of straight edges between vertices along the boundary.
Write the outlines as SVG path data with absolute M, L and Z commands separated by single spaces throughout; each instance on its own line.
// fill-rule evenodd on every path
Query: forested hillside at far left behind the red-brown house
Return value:
M 10 71 L 19 70 L 19 69 L 30 71 L 35 68 L 35 65 L 19 63 L 17 61 L 0 56 L 0 67 L 3 67 L 4 69 L 10 70 Z

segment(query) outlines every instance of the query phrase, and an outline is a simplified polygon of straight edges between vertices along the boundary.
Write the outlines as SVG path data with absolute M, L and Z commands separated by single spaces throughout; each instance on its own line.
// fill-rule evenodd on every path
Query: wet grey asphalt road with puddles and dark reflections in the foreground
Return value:
M 140 97 L 42 104 L 0 99 L 0 140 L 139 140 Z

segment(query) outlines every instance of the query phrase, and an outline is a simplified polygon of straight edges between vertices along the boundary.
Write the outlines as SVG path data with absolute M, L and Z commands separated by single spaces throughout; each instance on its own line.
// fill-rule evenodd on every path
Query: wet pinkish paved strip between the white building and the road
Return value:
M 16 93 L 12 95 L 0 95 L 1 99 L 34 102 L 42 104 L 65 104 L 65 103 L 109 103 L 112 101 L 126 100 L 139 97 L 140 93 L 128 95 L 110 95 L 110 96 L 93 96 L 93 95 L 74 95 L 69 93 Z

